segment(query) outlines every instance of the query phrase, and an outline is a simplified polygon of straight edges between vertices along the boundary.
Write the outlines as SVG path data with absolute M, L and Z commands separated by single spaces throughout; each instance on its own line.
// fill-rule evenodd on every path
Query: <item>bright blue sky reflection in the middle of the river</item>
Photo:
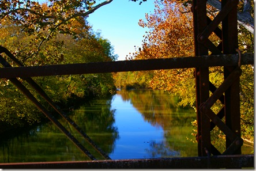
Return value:
M 116 94 L 111 106 L 112 109 L 116 109 L 115 127 L 118 127 L 119 132 L 115 150 L 110 154 L 112 159 L 158 158 L 161 155 L 155 155 L 155 151 L 159 151 L 159 146 L 162 151 L 168 150 L 163 143 L 163 129 L 145 122 L 130 101 L 123 101 L 121 95 Z M 166 154 L 173 152 L 167 151 Z

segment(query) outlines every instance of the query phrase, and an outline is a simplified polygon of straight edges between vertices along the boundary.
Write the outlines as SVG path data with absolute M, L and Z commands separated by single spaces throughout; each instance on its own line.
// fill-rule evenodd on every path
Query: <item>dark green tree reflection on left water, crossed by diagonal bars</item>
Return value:
M 93 100 L 73 111 L 69 116 L 105 153 L 114 150 L 118 129 L 114 127 L 115 110 L 111 110 L 111 97 Z M 92 147 L 63 120 L 59 120 L 98 159 Z M 45 123 L 24 134 L 0 142 L 0 162 L 39 162 L 85 160 L 82 152 L 66 138 L 51 122 Z

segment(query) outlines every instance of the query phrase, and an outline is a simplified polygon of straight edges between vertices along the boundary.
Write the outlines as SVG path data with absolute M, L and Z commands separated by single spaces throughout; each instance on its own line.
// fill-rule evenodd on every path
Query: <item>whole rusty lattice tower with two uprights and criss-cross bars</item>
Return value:
M 219 14 L 211 20 L 207 16 L 206 1 L 193 1 L 195 56 L 239 52 L 237 7 L 238 0 L 223 0 Z M 217 46 L 209 39 L 212 33 L 220 39 Z M 222 154 L 241 154 L 243 140 L 240 138 L 239 76 L 242 71 L 238 65 L 224 67 L 224 81 L 219 88 L 209 81 L 208 67 L 195 69 L 198 156 L 221 154 L 211 143 L 210 131 L 215 126 L 226 136 L 226 150 Z M 212 92 L 212 96 L 209 92 Z M 217 100 L 223 103 L 223 108 L 216 114 L 211 107 Z

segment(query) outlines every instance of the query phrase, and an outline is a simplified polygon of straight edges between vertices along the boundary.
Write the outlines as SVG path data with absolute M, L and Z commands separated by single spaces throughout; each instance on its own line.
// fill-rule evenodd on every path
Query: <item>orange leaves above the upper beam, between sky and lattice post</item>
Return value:
M 147 50 L 144 59 L 193 54 L 193 43 L 191 43 L 193 29 L 189 16 L 191 13 L 182 13 L 181 11 L 186 9 L 181 3 L 170 1 L 155 1 L 155 3 L 155 12 L 146 14 L 146 21 L 139 22 L 140 26 L 152 28 L 144 38 L 143 49 Z

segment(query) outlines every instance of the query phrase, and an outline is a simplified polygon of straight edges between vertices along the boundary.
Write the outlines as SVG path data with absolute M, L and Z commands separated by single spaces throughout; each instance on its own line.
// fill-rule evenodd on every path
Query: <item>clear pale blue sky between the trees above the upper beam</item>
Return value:
M 93 31 L 100 30 L 101 36 L 110 40 L 118 60 L 125 60 L 129 52 L 135 51 L 135 47 L 141 47 L 142 36 L 147 29 L 139 26 L 138 21 L 145 19 L 145 13 L 153 12 L 153 2 L 148 0 L 139 5 L 139 2 L 114 0 L 90 14 L 87 21 Z

